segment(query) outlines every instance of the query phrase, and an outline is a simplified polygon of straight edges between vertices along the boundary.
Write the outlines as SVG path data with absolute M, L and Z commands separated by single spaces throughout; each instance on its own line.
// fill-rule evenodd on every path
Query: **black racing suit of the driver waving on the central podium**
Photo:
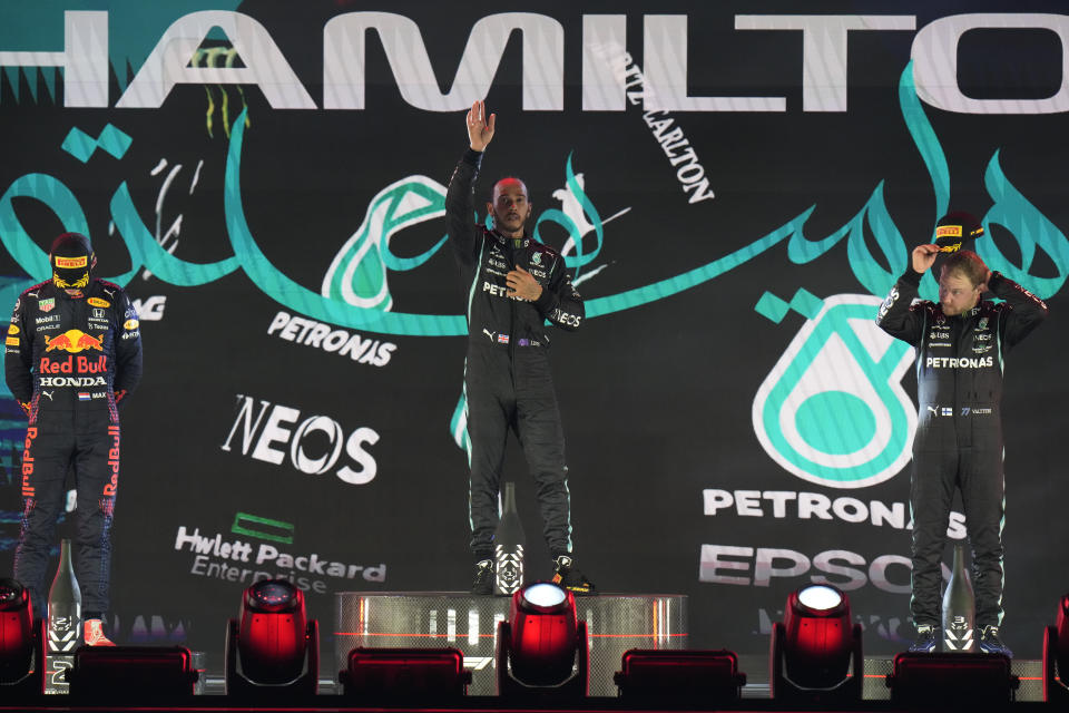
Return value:
M 469 149 L 445 195 L 449 236 L 468 297 L 464 393 L 471 440 L 469 511 L 477 559 L 493 555 L 498 491 L 511 429 L 523 448 L 552 556 L 571 551 L 565 436 L 549 368 L 546 321 L 573 331 L 586 312 L 557 251 L 524 235 L 474 224 L 473 184 L 482 153 Z M 522 266 L 542 286 L 534 302 L 507 296 L 506 274 Z

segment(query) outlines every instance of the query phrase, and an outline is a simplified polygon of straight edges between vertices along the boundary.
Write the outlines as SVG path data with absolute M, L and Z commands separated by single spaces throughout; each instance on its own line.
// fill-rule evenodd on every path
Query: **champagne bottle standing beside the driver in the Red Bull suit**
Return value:
M 60 543 L 59 567 L 48 590 L 48 646 L 45 693 L 70 693 L 67 670 L 75 665 L 81 629 L 81 589 L 70 559 L 70 540 Z

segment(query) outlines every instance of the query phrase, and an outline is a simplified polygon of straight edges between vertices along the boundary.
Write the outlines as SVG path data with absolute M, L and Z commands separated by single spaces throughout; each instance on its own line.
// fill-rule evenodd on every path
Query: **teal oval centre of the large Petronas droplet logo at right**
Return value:
M 823 391 L 795 412 L 798 434 L 812 448 L 844 456 L 864 448 L 876 433 L 876 419 L 863 399 L 845 391 Z

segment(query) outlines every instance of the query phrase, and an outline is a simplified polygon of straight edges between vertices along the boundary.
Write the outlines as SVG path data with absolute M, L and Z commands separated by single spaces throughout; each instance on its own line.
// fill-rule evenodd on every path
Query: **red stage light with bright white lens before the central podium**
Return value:
M 576 598 L 539 582 L 512 595 L 509 621 L 498 624 L 498 693 L 587 694 L 587 625 Z

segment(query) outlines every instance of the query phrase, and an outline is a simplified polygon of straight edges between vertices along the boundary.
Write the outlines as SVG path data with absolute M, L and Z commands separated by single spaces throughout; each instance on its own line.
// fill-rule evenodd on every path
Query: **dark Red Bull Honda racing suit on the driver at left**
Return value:
M 51 282 L 19 296 L 8 328 L 8 388 L 29 416 L 14 577 L 38 616 L 67 470 L 78 492 L 75 575 L 82 609 L 108 608 L 111 518 L 119 478 L 117 401 L 141 378 L 137 313 L 115 284 L 92 280 L 72 297 Z

